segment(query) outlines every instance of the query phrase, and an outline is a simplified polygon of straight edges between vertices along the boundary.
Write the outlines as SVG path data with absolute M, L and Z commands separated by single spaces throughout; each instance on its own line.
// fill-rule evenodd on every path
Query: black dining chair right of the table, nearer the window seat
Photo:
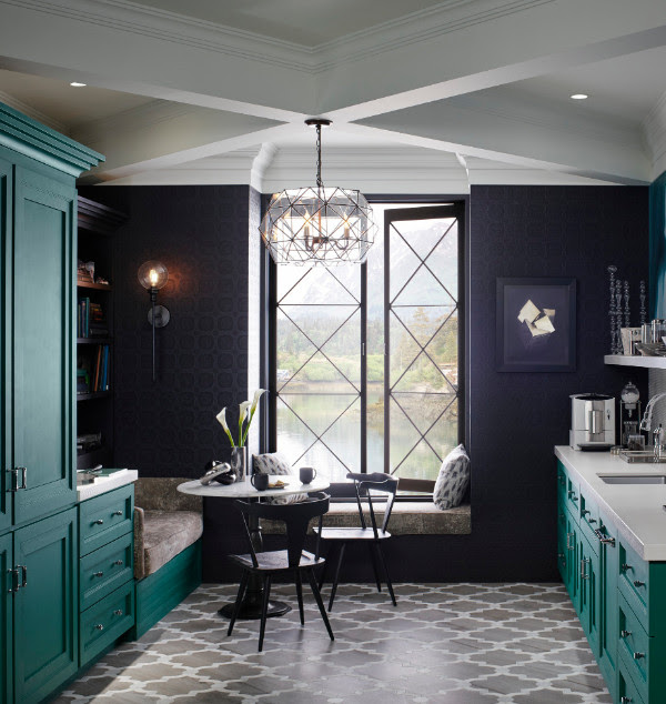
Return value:
M 384 552 L 382 550 L 382 543 L 391 537 L 389 533 L 389 521 L 391 520 L 391 511 L 393 510 L 393 502 L 395 500 L 395 492 L 397 490 L 397 480 L 390 474 L 383 474 L 382 472 L 373 472 L 372 474 L 357 474 L 353 472 L 347 473 L 347 477 L 354 480 L 354 489 L 356 493 L 356 503 L 359 505 L 359 521 L 360 527 L 320 527 L 314 529 L 319 532 L 319 536 L 326 542 L 332 543 L 331 554 L 326 556 L 327 561 L 331 561 L 332 554 L 336 551 L 337 564 L 335 566 L 335 576 L 333 579 L 333 586 L 331 589 L 331 597 L 329 600 L 329 611 L 333 609 L 333 602 L 335 600 L 335 593 L 337 592 L 337 584 L 340 582 L 340 567 L 344 559 L 344 549 L 347 543 L 365 543 L 370 551 L 370 559 L 372 569 L 374 571 L 375 582 L 377 585 L 377 592 L 382 591 L 382 581 L 380 580 L 380 571 L 377 567 L 377 560 L 382 564 L 384 576 L 386 577 L 386 586 L 391 594 L 391 601 L 394 606 L 397 606 L 395 601 L 395 594 L 393 593 L 393 584 L 389 576 L 389 570 L 386 567 L 386 561 L 384 559 Z M 377 527 L 375 517 L 375 506 L 373 504 L 371 492 L 382 492 L 386 494 L 386 502 L 384 505 L 384 517 L 381 527 Z M 370 514 L 369 526 L 363 513 L 363 504 L 366 503 L 367 512 Z M 320 590 L 324 583 L 326 576 L 326 569 L 329 562 L 324 564 L 324 569 L 320 579 Z

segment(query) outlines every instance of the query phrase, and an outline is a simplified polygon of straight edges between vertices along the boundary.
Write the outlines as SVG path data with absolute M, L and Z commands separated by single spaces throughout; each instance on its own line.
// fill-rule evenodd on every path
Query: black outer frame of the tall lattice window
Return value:
M 262 194 L 262 213 L 270 202 L 270 195 Z M 369 203 L 383 203 L 395 205 L 391 209 L 391 213 L 408 214 L 415 210 L 415 205 L 422 205 L 423 209 L 435 209 L 442 205 L 454 207 L 455 217 L 458 220 L 458 442 L 468 446 L 467 432 L 468 423 L 468 228 L 470 228 L 470 197 L 468 195 L 395 195 L 395 194 L 367 194 Z M 404 205 L 405 208 L 400 208 Z M 423 210 L 418 209 L 421 212 Z M 377 237 L 385 238 L 390 219 L 384 220 L 384 230 L 377 233 Z M 278 265 L 271 259 L 269 251 L 262 243 L 261 260 L 261 369 L 260 375 L 262 388 L 269 393 L 268 402 L 263 405 L 263 413 L 260 416 L 260 452 L 275 452 L 278 447 Z M 362 301 L 361 306 L 361 341 L 365 342 L 366 335 L 366 264 L 361 264 L 361 286 Z M 384 279 L 384 285 L 387 285 L 389 279 Z M 362 472 L 367 471 L 366 466 L 366 355 L 361 359 L 361 463 Z M 385 441 L 386 442 L 386 441 Z M 386 455 L 384 455 L 386 461 Z M 403 480 L 405 481 L 405 480 Z M 418 482 L 426 480 L 406 480 L 406 491 L 418 491 Z M 331 483 L 329 490 L 334 497 L 343 500 L 354 496 L 352 482 Z M 420 492 L 416 495 L 404 494 L 396 496 L 398 501 L 431 501 L 432 492 L 424 494 Z

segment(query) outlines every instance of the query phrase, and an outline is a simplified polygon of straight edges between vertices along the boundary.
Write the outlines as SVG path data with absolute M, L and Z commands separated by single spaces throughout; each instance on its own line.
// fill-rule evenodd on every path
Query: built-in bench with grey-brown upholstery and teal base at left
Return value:
M 134 485 L 134 638 L 201 584 L 203 504 L 176 490 L 186 481 L 139 477 Z

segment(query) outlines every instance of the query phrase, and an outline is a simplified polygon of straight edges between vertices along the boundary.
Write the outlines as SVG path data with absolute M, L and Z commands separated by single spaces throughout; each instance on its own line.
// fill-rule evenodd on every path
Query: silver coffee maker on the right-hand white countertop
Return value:
M 572 400 L 569 445 L 574 450 L 609 450 L 615 444 L 615 399 L 576 393 Z

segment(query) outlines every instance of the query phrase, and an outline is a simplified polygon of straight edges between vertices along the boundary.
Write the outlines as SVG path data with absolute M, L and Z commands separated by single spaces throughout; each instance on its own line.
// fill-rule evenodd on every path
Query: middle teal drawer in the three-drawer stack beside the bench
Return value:
M 134 576 L 134 535 L 128 533 L 79 561 L 79 610 L 84 611 Z

